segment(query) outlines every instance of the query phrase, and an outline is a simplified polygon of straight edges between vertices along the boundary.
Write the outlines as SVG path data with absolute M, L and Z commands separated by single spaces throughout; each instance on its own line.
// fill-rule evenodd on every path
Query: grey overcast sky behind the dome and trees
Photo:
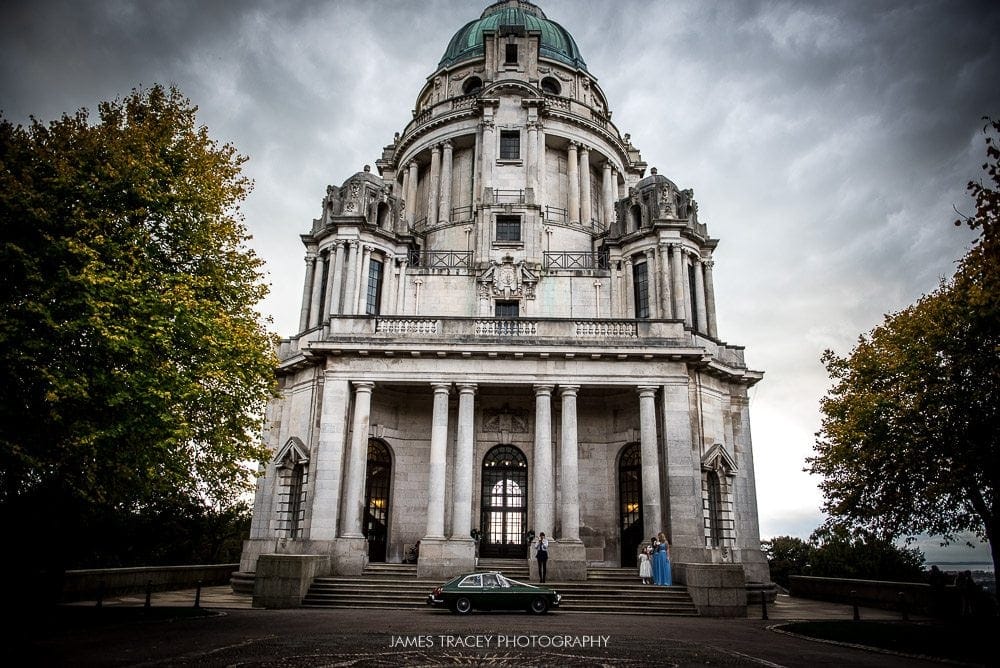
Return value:
M 0 110 L 43 121 L 175 84 L 250 157 L 245 204 L 295 333 L 299 234 L 412 117 L 451 36 L 489 0 L 6 0 Z M 761 536 L 822 521 L 802 471 L 825 348 L 950 276 L 971 235 L 984 115 L 1000 115 L 1000 3 L 541 0 L 575 37 L 622 132 L 693 188 L 715 253 L 719 335 L 751 392 Z M 922 543 L 941 558 L 937 541 Z M 947 558 L 987 560 L 981 547 Z

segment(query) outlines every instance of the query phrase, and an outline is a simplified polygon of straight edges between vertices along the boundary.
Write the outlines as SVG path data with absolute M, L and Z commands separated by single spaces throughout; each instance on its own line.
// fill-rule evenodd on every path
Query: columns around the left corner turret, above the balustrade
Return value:
M 331 315 L 365 313 L 373 254 L 382 262 L 381 313 L 403 313 L 406 307 L 408 258 L 405 255 L 396 258 L 357 239 L 336 240 L 324 253 L 314 248 L 306 251 L 306 278 L 299 312 L 300 332 L 318 327 Z M 394 264 L 398 266 L 395 280 Z

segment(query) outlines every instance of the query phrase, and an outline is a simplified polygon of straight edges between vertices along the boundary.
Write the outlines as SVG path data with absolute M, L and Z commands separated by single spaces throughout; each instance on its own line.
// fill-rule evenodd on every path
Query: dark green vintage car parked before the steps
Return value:
M 527 610 L 542 615 L 559 606 L 562 596 L 548 587 L 525 584 L 498 571 L 465 573 L 452 578 L 427 597 L 431 606 L 447 606 L 467 615 L 476 610 Z

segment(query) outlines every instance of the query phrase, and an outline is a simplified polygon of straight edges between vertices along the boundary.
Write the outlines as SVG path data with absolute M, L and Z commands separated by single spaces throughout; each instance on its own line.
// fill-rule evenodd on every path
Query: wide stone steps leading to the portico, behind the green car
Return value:
M 528 582 L 524 560 L 480 560 L 477 570 L 497 570 L 513 580 Z M 412 564 L 369 564 L 360 576 L 316 578 L 303 600 L 313 608 L 423 608 L 440 580 L 417 578 Z M 563 599 L 562 612 L 628 615 L 698 614 L 684 587 L 644 585 L 634 568 L 591 568 L 587 579 L 546 583 Z

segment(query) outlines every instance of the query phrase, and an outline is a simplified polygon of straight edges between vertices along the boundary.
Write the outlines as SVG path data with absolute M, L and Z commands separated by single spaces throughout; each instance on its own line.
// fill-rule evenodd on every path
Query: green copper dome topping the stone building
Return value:
M 541 57 L 558 60 L 571 67 L 587 69 L 573 36 L 555 21 L 545 18 L 541 9 L 523 0 L 495 2 L 486 8 L 479 19 L 465 24 L 448 42 L 448 48 L 438 63 L 438 68 L 450 67 L 463 60 L 484 57 L 486 49 L 483 33 L 503 32 L 501 29 L 503 26 L 519 26 L 527 31 L 541 33 L 539 39 Z

